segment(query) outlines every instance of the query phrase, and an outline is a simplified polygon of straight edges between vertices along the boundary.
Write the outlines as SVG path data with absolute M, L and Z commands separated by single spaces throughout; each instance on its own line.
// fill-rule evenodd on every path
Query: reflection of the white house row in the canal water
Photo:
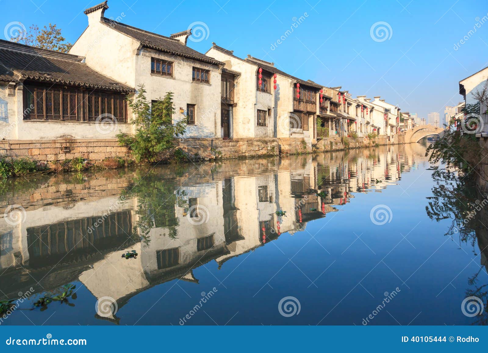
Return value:
M 115 298 L 120 309 L 133 295 L 160 283 L 198 283 L 193 269 L 212 260 L 224 266 L 283 233 L 306 230 L 307 222 L 354 202 L 356 192 L 395 183 L 411 167 L 407 163 L 414 163 L 405 156 L 415 153 L 406 148 L 259 160 L 239 167 L 224 162 L 217 170 L 210 170 L 211 164 L 200 170 L 188 166 L 187 175 L 194 171 L 197 177 L 172 175 L 174 185 L 161 178 L 163 171 L 168 175 L 166 169 L 156 169 L 147 189 L 164 185 L 169 190 L 164 197 L 132 191 L 121 201 L 123 189 L 140 184 L 130 177 L 114 179 L 117 187 L 107 182 L 98 191 L 85 186 L 91 196 L 69 204 L 59 204 L 57 194 L 44 194 L 35 206 L 26 206 L 20 225 L 0 221 L 0 289 L 12 297 L 31 286 L 36 292 L 51 291 L 80 280 L 95 297 Z M 415 160 L 422 155 L 415 154 Z M 130 250 L 137 251 L 137 258 L 122 258 Z

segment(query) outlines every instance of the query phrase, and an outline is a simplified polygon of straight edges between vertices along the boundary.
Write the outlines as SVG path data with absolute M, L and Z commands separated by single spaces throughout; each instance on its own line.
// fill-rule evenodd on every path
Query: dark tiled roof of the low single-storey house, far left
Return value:
M 35 80 L 122 92 L 133 89 L 88 67 L 83 57 L 0 40 L 0 81 Z

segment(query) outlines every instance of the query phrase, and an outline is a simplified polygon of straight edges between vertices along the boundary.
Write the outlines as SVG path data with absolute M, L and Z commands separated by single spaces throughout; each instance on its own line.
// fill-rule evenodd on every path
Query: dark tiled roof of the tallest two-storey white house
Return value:
M 132 27 L 117 21 L 112 21 L 105 17 L 102 18 L 102 23 L 115 29 L 117 32 L 125 34 L 132 39 L 141 42 L 141 45 L 154 50 L 159 50 L 165 53 L 181 56 L 183 58 L 189 58 L 198 60 L 201 62 L 207 62 L 214 65 L 224 65 L 224 62 L 215 60 L 208 57 L 186 45 L 177 39 L 164 37 L 160 34 L 144 31 L 140 28 Z M 178 34 L 178 33 L 175 33 Z

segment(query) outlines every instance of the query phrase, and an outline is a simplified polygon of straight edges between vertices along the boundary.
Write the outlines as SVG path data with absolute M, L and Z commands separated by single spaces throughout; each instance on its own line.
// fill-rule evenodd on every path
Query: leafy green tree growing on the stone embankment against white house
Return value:
M 183 135 L 186 121 L 171 124 L 175 113 L 173 92 L 167 92 L 163 99 L 150 104 L 146 99 L 144 85 L 139 86 L 133 100 L 128 100 L 136 126 L 135 135 L 119 133 L 117 138 L 123 146 L 128 146 L 137 162 L 156 163 L 162 153 L 175 147 L 174 138 Z M 152 106 L 151 106 L 152 105 Z

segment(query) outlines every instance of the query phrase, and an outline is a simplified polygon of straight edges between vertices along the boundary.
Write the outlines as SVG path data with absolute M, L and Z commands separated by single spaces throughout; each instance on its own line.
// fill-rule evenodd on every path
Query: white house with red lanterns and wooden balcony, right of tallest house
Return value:
M 317 100 L 322 86 L 289 75 L 273 62 L 250 55 L 241 59 L 233 53 L 215 43 L 206 52 L 224 62 L 225 69 L 240 74 L 234 89 L 236 104 L 230 136 L 274 137 L 287 143 L 292 138 L 311 146 L 316 140 Z

